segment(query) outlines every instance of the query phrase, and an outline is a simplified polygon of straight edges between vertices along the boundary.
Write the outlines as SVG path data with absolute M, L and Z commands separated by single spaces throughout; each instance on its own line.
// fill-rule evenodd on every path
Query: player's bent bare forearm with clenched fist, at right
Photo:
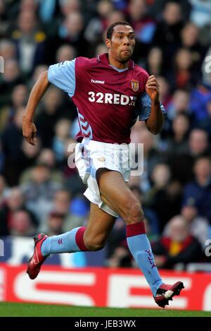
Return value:
M 148 130 L 154 135 L 162 130 L 164 116 L 160 109 L 159 85 L 155 76 L 150 76 L 146 82 L 146 92 L 151 98 L 151 114 L 146 120 Z

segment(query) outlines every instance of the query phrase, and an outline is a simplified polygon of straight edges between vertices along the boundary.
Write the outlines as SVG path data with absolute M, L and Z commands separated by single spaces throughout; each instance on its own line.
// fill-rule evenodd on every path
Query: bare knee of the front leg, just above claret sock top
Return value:
M 126 224 L 133 224 L 137 222 L 143 222 L 144 215 L 141 208 L 141 203 L 136 198 L 132 197 L 128 200 L 126 218 L 124 221 Z

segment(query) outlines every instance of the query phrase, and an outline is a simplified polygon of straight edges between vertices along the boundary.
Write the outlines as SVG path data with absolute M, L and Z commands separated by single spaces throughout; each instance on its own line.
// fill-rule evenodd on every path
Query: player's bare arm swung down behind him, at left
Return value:
M 44 73 L 41 73 L 39 79 L 34 84 L 27 102 L 27 107 L 23 116 L 23 136 L 27 140 L 27 143 L 30 143 L 31 145 L 35 145 L 37 141 L 37 128 L 33 123 L 34 112 L 39 100 L 41 100 L 41 97 L 43 97 L 47 88 L 49 88 L 49 85 L 48 71 L 44 71 Z

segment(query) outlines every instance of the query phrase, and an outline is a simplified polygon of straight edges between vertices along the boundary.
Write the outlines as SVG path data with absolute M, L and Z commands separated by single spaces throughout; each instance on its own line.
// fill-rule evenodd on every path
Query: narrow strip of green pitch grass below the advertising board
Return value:
M 0 316 L 6 317 L 211 317 L 211 311 L 172 311 L 170 309 L 98 308 L 37 303 L 0 303 Z

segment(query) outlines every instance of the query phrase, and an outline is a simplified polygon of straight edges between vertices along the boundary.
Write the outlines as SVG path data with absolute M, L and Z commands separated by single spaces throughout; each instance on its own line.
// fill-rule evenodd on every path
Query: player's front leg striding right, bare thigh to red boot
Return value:
M 124 219 L 129 250 L 146 277 L 155 301 L 164 307 L 172 296 L 179 294 L 183 284 L 178 282 L 170 286 L 162 282 L 146 236 L 141 203 L 125 183 L 122 174 L 117 171 L 99 169 L 98 186 L 102 200 Z

